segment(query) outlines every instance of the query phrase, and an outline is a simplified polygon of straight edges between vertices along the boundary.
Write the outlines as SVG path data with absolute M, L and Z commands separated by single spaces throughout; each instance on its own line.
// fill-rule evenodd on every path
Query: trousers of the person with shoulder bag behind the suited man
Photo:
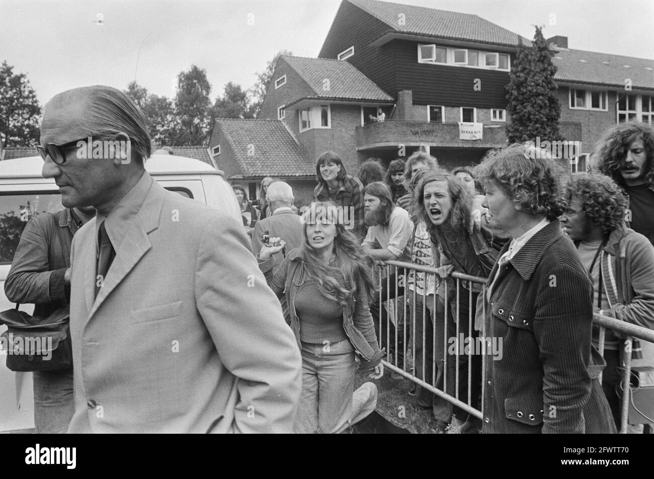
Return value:
M 75 412 L 73 368 L 32 373 L 37 434 L 65 434 Z

